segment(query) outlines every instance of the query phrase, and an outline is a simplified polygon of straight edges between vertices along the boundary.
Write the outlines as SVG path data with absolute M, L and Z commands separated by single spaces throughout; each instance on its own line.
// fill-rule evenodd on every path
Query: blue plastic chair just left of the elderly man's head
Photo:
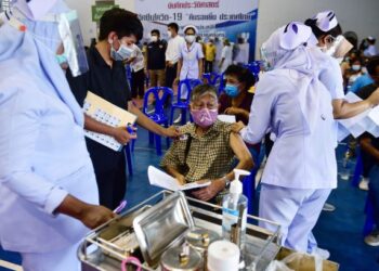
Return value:
M 172 103 L 172 106 L 171 106 L 170 125 L 173 124 L 173 113 L 174 113 L 175 109 L 180 109 L 181 111 L 181 113 L 182 113 L 181 124 L 185 125 L 185 121 L 186 121 L 186 118 L 187 118 L 187 111 L 188 111 L 192 89 L 194 87 L 198 86 L 198 85 L 201 85 L 201 83 L 202 82 L 199 79 L 184 79 L 184 80 L 181 80 L 179 82 L 177 102 Z M 185 101 L 181 100 L 183 86 L 185 86 L 187 88 L 187 90 L 188 90 L 188 94 L 187 94 Z M 191 119 L 191 115 L 190 115 L 190 119 Z

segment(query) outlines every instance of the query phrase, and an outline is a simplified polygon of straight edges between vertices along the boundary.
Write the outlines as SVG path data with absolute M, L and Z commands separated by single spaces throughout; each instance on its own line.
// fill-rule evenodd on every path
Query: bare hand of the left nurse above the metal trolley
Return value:
M 90 205 L 84 208 L 80 221 L 90 229 L 95 229 L 116 217 L 116 214 L 100 205 Z

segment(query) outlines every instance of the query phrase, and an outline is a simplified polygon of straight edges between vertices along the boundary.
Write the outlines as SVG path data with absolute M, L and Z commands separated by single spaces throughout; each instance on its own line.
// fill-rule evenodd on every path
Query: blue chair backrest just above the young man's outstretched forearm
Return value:
M 151 88 L 145 92 L 145 95 L 143 98 L 143 113 L 145 115 L 147 114 L 147 106 L 148 106 L 148 98 L 149 95 L 153 94 L 154 99 L 155 99 L 155 112 L 154 114 L 157 115 L 162 115 L 165 114 L 165 102 L 168 98 L 173 96 L 173 91 L 170 88 L 166 88 L 166 87 L 155 87 L 155 88 Z

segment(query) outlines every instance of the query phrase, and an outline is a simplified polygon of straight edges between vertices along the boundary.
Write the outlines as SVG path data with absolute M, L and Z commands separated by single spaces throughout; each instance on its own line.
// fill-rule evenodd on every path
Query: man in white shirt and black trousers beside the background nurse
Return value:
M 168 25 L 169 41 L 166 50 L 166 87 L 172 88 L 173 80 L 177 77 L 178 62 L 181 56 L 180 47 L 185 43 L 184 38 L 178 35 L 179 26 L 177 23 Z

